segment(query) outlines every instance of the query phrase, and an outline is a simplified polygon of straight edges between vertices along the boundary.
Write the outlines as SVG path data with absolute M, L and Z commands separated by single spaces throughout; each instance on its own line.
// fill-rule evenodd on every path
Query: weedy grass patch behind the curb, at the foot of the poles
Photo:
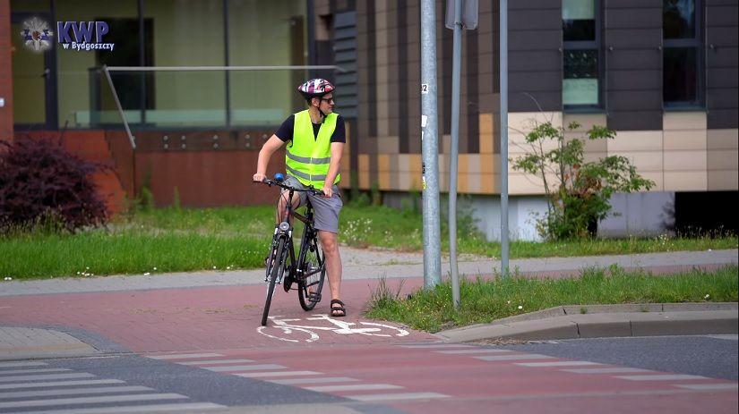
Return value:
M 391 291 L 382 282 L 374 291 L 366 316 L 434 333 L 564 305 L 737 301 L 739 267 L 651 275 L 614 266 L 586 269 L 580 277 L 565 279 L 528 279 L 520 275 L 463 279 L 459 309 L 451 304 L 448 282 L 414 291 L 409 298 L 401 298 L 399 291 Z

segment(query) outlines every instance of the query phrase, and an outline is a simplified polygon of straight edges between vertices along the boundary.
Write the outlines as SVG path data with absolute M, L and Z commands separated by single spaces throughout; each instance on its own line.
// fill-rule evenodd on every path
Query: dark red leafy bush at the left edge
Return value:
M 55 139 L 0 141 L 0 232 L 51 218 L 74 232 L 107 223 L 92 174 L 106 168 L 83 160 Z

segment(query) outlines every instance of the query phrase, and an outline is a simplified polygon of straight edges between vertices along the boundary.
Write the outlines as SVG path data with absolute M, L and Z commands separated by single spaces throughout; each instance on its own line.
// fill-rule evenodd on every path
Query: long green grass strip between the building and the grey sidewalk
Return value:
M 421 215 L 391 207 L 348 205 L 339 241 L 364 248 L 423 249 Z M 460 227 L 462 230 L 469 225 Z M 274 207 L 161 208 L 120 216 L 108 226 L 77 234 L 0 236 L 0 277 L 123 275 L 262 266 L 274 230 Z M 297 222 L 295 234 L 303 232 Z M 448 250 L 449 238 L 442 245 Z M 511 241 L 511 258 L 549 258 L 682 250 L 736 249 L 735 235 L 717 238 Z M 500 257 L 500 243 L 471 230 L 459 233 L 460 254 Z M 157 267 L 157 270 L 153 268 Z

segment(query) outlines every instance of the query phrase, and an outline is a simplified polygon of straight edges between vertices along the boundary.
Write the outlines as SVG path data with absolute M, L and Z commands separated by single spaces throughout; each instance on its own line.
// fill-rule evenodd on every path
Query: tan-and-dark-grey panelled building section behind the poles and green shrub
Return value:
M 444 12 L 437 2 L 443 191 L 452 55 Z M 458 186 L 491 238 L 499 237 L 498 12 L 497 2 L 479 2 L 477 30 L 463 31 L 461 64 Z M 580 132 L 606 125 L 617 136 L 589 141 L 589 159 L 627 156 L 656 186 L 617 195 L 620 215 L 600 223 L 601 234 L 659 233 L 675 224 L 736 228 L 723 207 L 735 203 L 739 175 L 735 0 L 525 0 L 509 2 L 508 19 L 511 157 L 526 151 L 531 120 L 577 121 Z M 419 24 L 417 0 L 357 2 L 363 189 L 373 182 L 391 194 L 421 187 Z M 533 218 L 546 209 L 542 182 L 510 165 L 508 173 L 511 236 L 534 239 Z M 707 202 L 717 210 L 709 213 Z

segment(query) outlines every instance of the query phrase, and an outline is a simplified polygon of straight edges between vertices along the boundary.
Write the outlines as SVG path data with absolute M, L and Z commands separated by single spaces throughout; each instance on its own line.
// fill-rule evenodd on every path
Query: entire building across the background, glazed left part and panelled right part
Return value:
M 193 207 L 271 202 L 249 182 L 262 142 L 303 103 L 300 80 L 333 80 L 348 120 L 342 185 L 378 187 L 389 205 L 421 190 L 419 0 L 0 0 L 0 139 L 63 136 L 115 173 L 101 186 L 116 208 L 142 186 L 159 205 L 175 192 Z M 436 2 L 439 165 L 448 190 L 452 32 Z M 104 21 L 113 51 L 30 50 L 31 18 L 57 32 Z M 500 114 L 498 2 L 479 2 L 462 39 L 459 192 L 498 238 Z M 32 43 L 32 42 L 31 42 Z M 587 156 L 627 156 L 656 183 L 614 197 L 604 235 L 677 226 L 736 229 L 739 190 L 737 0 L 509 2 L 509 150 L 532 120 L 617 132 Z M 336 71 L 185 71 L 193 66 L 336 65 Z M 111 72 L 123 111 L 107 86 Z M 150 72 L 136 67 L 169 67 Z M 123 131 L 130 124 L 136 147 Z M 582 131 L 573 133 L 580 136 Z M 271 170 L 280 169 L 276 157 Z M 536 239 L 542 183 L 509 170 L 511 236 Z M 176 191 L 175 191 L 176 190 Z M 710 206 L 708 209 L 707 206 Z M 710 211 L 710 213 L 709 213 Z

